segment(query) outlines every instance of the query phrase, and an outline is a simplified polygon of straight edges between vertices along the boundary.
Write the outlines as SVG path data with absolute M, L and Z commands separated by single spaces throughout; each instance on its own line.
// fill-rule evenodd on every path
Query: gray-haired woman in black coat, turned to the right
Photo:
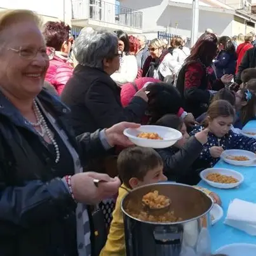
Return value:
M 140 122 L 147 107 L 144 90 L 123 108 L 121 89 L 111 79 L 119 69 L 118 37 L 106 31 L 83 29 L 74 44 L 78 65 L 67 82 L 62 100 L 71 108 L 71 123 L 79 135 L 110 127 L 119 121 Z

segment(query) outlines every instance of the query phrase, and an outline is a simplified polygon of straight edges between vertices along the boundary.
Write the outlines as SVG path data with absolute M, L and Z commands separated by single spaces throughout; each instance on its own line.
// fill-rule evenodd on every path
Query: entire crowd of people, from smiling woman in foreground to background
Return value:
M 253 36 L 236 50 L 206 30 L 189 49 L 184 37 L 86 28 L 74 40 L 64 22 L 41 25 L 32 11 L 0 13 L 1 255 L 125 256 L 127 192 L 197 185 L 224 150 L 256 151 L 239 132 L 256 114 Z M 123 131 L 145 124 L 182 138 L 134 146 Z

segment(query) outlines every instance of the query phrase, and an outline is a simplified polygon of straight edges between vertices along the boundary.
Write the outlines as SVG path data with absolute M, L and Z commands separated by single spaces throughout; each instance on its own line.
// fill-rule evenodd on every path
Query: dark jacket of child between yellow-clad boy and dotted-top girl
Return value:
M 200 178 L 192 164 L 199 157 L 203 145 L 193 136 L 181 149 L 177 147 L 168 147 L 159 149 L 158 153 L 163 159 L 163 171 L 168 178 L 175 182 L 189 185 L 198 184 Z

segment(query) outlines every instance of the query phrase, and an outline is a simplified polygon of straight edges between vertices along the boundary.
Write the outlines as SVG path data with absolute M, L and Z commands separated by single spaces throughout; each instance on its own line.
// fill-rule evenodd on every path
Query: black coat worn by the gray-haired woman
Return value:
M 147 102 L 134 97 L 123 108 L 120 91 L 121 88 L 104 71 L 77 65 L 61 96 L 71 108 L 70 120 L 76 134 L 108 128 L 121 121 L 140 123 Z

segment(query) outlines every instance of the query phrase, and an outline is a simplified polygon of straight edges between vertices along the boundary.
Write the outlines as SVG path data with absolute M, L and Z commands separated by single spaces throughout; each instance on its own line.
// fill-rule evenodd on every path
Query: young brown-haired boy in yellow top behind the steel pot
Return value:
M 116 208 L 112 214 L 111 228 L 107 236 L 107 243 L 100 252 L 100 256 L 125 256 L 125 230 L 121 201 L 125 195 L 141 185 L 166 181 L 163 174 L 163 160 L 158 152 L 147 147 L 130 147 L 118 156 L 119 177 L 123 184 L 119 187 Z M 201 189 L 201 188 L 199 188 Z M 215 198 L 216 194 L 201 189 Z

